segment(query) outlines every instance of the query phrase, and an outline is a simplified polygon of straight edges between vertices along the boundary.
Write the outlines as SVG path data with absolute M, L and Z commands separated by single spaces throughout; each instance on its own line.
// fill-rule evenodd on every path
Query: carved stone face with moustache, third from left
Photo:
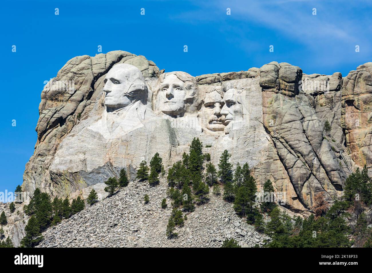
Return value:
M 221 93 L 216 89 L 205 95 L 200 117 L 203 126 L 210 131 L 223 131 L 225 129 L 221 108 L 224 105 Z

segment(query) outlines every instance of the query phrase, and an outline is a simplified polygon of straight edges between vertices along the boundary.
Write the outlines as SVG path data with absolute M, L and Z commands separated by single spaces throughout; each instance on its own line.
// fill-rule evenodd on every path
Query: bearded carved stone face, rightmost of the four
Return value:
M 224 124 L 226 125 L 225 132 L 228 133 L 232 128 L 232 123 L 234 121 L 242 120 L 242 108 L 241 101 L 239 100 L 240 94 L 235 88 L 228 89 L 224 94 L 224 103 L 222 107 L 221 114 L 225 116 Z

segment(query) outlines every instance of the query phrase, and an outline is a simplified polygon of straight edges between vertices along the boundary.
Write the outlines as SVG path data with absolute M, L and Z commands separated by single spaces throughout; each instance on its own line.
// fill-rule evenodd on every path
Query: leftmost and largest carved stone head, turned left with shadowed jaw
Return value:
M 147 95 L 141 71 L 128 64 L 113 66 L 105 77 L 105 105 L 108 111 L 128 106 Z

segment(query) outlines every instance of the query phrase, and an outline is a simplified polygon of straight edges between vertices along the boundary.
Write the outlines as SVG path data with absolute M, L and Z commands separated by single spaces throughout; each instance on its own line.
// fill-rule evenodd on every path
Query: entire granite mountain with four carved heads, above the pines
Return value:
M 125 51 L 78 56 L 42 91 L 23 190 L 86 198 L 94 188 L 102 198 L 121 168 L 135 179 L 158 152 L 167 169 L 198 137 L 214 165 L 227 149 L 257 188 L 271 179 L 286 208 L 305 212 L 317 192 L 341 196 L 358 166 L 372 172 L 371 74 L 371 62 L 344 78 L 271 62 L 193 77 Z

